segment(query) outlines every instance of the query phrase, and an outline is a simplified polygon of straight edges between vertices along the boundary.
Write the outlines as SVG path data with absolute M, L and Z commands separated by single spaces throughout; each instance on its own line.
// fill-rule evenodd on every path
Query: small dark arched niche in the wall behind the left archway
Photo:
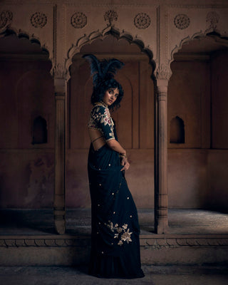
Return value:
M 33 120 L 33 145 L 48 142 L 47 122 L 41 116 Z

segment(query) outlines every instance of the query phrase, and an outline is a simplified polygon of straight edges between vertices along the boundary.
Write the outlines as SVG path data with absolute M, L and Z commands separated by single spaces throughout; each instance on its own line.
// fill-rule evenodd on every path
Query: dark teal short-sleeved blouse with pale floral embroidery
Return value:
M 95 103 L 88 120 L 88 128 L 100 130 L 106 142 L 115 139 L 114 123 L 105 103 Z

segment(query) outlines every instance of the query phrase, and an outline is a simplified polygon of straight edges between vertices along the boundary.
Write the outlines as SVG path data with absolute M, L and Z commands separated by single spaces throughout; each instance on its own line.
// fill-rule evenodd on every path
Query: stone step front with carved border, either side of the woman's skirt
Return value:
M 142 264 L 228 264 L 228 234 L 140 236 Z M 87 264 L 90 236 L 19 235 L 0 237 L 0 266 Z

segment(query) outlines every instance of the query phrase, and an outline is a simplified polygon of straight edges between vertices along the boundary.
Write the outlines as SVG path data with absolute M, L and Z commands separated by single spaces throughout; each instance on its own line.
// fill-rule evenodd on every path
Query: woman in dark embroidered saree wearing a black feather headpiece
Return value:
M 103 278 L 143 277 L 138 213 L 124 176 L 130 164 L 110 116 L 110 109 L 119 107 L 123 98 L 123 89 L 113 78 L 123 63 L 115 58 L 100 62 L 93 55 L 83 57 L 90 61 L 93 75 L 93 108 L 88 121 L 92 212 L 89 273 Z

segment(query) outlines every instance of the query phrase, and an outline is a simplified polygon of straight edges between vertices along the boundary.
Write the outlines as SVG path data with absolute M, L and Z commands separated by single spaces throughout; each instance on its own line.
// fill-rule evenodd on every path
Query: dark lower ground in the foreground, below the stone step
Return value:
M 87 267 L 0 266 L 4 285 L 227 285 L 225 266 L 142 266 L 142 279 L 98 279 L 87 274 Z

